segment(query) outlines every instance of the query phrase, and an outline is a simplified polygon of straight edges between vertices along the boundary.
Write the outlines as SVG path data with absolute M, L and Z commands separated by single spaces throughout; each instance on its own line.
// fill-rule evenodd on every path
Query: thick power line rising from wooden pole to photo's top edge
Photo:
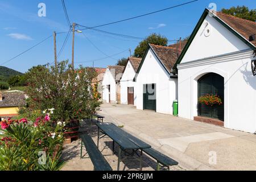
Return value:
M 114 23 L 125 22 L 125 21 L 127 21 L 127 20 L 131 20 L 131 19 L 135 19 L 135 18 L 140 18 L 140 17 L 142 17 L 142 16 L 147 16 L 147 15 L 151 15 L 151 14 L 154 14 L 154 13 L 159 13 L 160 11 L 166 11 L 166 10 L 174 9 L 175 7 L 184 6 L 184 5 L 187 5 L 187 4 L 189 4 L 189 3 L 196 2 L 196 1 L 199 1 L 199 0 L 189 1 L 189 2 L 186 2 L 186 3 L 182 3 L 182 4 L 180 4 L 180 5 L 167 7 L 166 9 L 162 9 L 162 10 L 158 10 L 158 11 L 153 11 L 153 12 L 151 12 L 151 13 L 147 13 L 147 14 L 143 14 L 143 15 L 134 16 L 134 17 L 127 18 L 127 19 L 122 19 L 122 20 L 118 20 L 118 21 L 115 21 L 115 22 L 111 22 L 111 23 L 100 24 L 100 25 L 94 26 L 94 27 L 83 28 L 83 29 L 81 29 L 81 30 L 87 30 L 87 29 L 92 29 L 92 28 L 107 26 L 107 25 L 114 24 Z

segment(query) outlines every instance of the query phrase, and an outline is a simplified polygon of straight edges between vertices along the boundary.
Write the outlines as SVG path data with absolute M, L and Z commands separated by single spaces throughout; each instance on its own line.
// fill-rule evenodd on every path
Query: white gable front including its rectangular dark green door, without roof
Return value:
M 171 78 L 170 73 L 164 68 L 154 51 L 149 48 L 141 63 L 141 68 L 135 77 L 137 87 L 137 109 L 155 110 L 157 113 L 173 114 L 172 103 L 177 99 L 177 78 Z M 154 85 L 154 86 L 153 86 Z M 145 90 L 146 89 L 146 90 Z M 145 93 L 152 96 L 145 97 Z M 155 108 L 147 107 L 152 98 Z

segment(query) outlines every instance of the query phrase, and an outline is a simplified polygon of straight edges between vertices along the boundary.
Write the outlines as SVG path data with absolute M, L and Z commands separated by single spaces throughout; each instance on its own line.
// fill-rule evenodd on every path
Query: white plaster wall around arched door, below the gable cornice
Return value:
M 253 52 L 241 56 L 205 60 L 197 65 L 179 65 L 179 116 L 197 116 L 197 80 L 206 73 L 224 77 L 224 126 L 229 129 L 256 131 L 256 77 L 251 72 Z M 241 58 L 242 57 L 242 58 Z

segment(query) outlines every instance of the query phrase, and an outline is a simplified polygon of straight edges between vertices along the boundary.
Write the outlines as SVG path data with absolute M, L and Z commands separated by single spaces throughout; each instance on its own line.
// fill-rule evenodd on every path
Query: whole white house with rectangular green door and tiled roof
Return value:
M 175 48 L 148 45 L 135 76 L 137 109 L 173 114 L 177 99 L 177 77 L 172 76 L 179 51 Z

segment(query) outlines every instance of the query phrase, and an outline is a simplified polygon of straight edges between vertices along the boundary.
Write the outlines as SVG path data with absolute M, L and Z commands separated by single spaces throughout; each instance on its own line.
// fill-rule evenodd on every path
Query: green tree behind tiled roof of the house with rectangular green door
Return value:
M 134 56 L 135 57 L 143 57 L 148 44 L 155 44 L 158 46 L 167 46 L 168 39 L 165 36 L 162 36 L 160 34 L 151 34 L 148 36 L 145 40 L 142 40 L 142 42 L 139 43 L 139 45 L 134 50 Z

